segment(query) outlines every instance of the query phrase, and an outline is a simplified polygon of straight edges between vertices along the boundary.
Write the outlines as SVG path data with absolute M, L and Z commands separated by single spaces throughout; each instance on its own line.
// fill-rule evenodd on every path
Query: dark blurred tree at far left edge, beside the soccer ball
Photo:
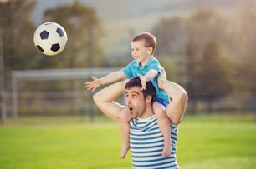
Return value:
M 11 83 L 11 71 L 33 65 L 33 32 L 28 31 L 33 29 L 33 23 L 27 18 L 35 4 L 34 0 L 0 1 L 0 102 L 3 123 L 6 121 L 6 91 L 11 87 L 8 85 Z

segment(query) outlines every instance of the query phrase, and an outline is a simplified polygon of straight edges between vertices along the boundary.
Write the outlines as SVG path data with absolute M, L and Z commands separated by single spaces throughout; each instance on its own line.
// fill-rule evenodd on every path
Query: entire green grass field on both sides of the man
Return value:
M 0 126 L 1 169 L 131 168 L 120 160 L 120 127 L 65 118 L 18 119 Z M 252 116 L 187 116 L 179 127 L 181 169 L 256 168 Z

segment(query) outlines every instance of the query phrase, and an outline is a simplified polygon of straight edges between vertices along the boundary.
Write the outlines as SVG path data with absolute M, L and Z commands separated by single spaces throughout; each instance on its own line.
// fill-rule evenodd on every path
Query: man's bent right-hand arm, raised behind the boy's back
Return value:
M 187 92 L 177 83 L 167 81 L 165 71 L 158 77 L 158 86 L 172 99 L 166 109 L 167 116 L 175 124 L 180 123 L 187 107 Z

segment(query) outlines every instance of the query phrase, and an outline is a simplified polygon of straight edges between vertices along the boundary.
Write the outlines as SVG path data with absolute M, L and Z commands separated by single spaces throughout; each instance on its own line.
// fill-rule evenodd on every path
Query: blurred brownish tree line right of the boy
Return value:
M 172 65 L 171 76 L 187 87 L 190 98 L 255 98 L 253 7 L 253 2 L 241 3 L 228 17 L 202 9 L 186 18 L 162 18 L 153 27 L 157 57 L 165 67 Z

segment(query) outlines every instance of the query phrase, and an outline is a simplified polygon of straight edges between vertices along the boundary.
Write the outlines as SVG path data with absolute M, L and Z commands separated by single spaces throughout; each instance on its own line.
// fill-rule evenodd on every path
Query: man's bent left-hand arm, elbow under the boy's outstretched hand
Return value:
M 115 102 L 115 99 L 125 91 L 126 82 L 128 82 L 128 80 L 116 82 L 109 87 L 105 87 L 100 92 L 95 93 L 93 97 L 95 104 L 105 116 L 110 117 L 115 121 L 119 121 L 119 114 L 124 108 L 123 105 Z

